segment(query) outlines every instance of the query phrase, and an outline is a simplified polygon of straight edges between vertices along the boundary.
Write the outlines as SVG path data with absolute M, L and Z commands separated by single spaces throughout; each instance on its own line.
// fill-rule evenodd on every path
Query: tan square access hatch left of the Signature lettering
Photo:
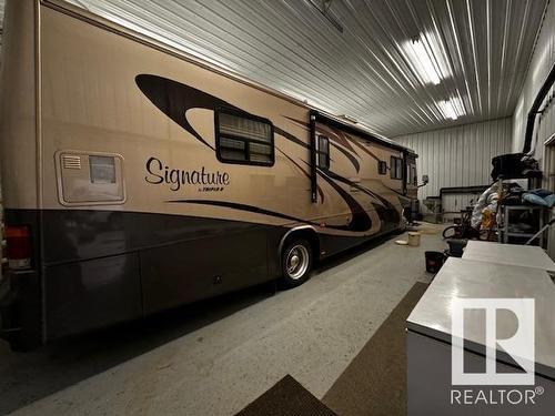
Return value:
M 111 153 L 57 153 L 58 196 L 62 205 L 125 202 L 123 158 Z

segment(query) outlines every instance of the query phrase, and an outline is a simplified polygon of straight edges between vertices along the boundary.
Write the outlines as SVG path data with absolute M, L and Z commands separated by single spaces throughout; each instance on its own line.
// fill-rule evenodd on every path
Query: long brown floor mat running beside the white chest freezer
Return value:
M 341 416 L 406 415 L 405 321 L 426 288 L 416 283 L 322 402 Z

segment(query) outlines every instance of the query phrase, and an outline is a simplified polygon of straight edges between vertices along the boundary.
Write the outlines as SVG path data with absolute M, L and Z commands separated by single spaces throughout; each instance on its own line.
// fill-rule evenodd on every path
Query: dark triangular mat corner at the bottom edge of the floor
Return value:
M 238 416 L 336 416 L 289 374 Z

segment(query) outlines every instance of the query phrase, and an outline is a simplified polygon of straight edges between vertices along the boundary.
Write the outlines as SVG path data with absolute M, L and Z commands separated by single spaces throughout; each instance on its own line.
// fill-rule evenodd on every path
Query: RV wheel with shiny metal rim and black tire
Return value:
M 312 248 L 306 240 L 293 240 L 281 254 L 282 283 L 295 287 L 310 278 Z

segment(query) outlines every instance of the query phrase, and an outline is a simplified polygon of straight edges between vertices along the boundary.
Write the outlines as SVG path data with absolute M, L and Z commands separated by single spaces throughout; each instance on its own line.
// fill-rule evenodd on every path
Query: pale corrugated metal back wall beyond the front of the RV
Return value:
M 423 200 L 440 195 L 441 187 L 488 184 L 492 158 L 511 150 L 512 126 L 512 119 L 505 118 L 394 140 L 418 153 L 418 176 L 430 176 L 430 183 L 418 190 Z

